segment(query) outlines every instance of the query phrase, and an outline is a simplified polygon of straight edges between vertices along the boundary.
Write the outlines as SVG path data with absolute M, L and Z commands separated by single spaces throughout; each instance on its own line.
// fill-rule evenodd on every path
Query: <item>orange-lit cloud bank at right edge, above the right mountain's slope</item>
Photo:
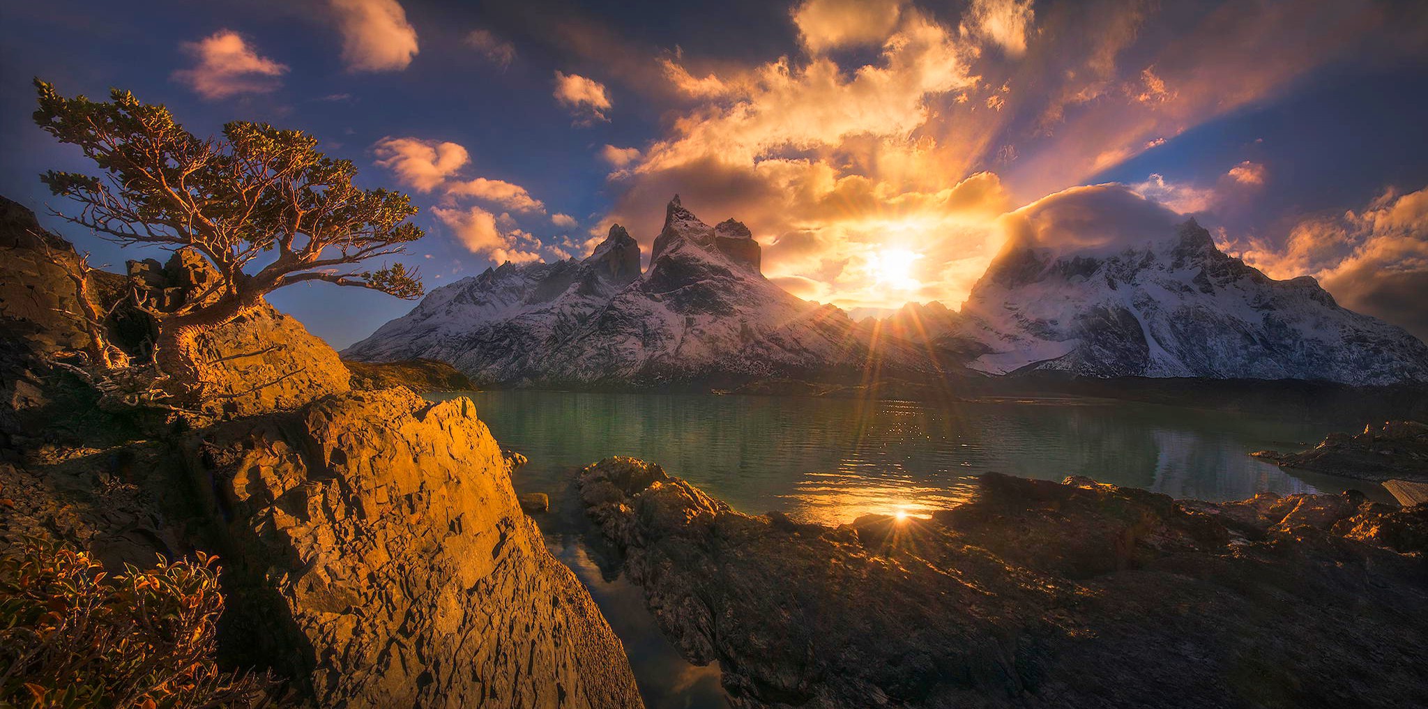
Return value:
M 1428 187 L 1301 220 L 1278 244 L 1251 237 L 1225 248 L 1274 278 L 1312 275 L 1345 308 L 1428 341 Z

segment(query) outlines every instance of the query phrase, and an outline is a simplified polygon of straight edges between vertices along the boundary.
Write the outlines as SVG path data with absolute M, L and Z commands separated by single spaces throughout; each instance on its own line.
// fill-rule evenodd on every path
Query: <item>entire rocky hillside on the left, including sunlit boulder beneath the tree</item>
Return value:
M 226 422 L 136 425 L 77 367 L 64 253 L 0 201 L 0 542 L 63 539 L 113 569 L 218 552 L 224 668 L 271 666 L 306 705 L 641 706 L 620 641 L 517 504 L 520 456 L 468 399 L 350 392 L 337 354 L 264 305 L 200 342 Z M 191 254 L 90 277 L 104 311 L 211 282 Z M 114 312 L 110 338 L 147 371 L 151 322 Z

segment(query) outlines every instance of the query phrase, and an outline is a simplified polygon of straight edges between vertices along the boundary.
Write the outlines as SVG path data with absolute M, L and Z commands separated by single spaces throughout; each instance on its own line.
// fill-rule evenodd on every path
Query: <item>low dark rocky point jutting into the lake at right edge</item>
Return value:
M 1387 421 L 1369 424 L 1362 434 L 1329 434 L 1307 451 L 1281 454 L 1257 451 L 1250 455 L 1284 468 L 1384 482 L 1402 479 L 1428 482 L 1428 424 Z

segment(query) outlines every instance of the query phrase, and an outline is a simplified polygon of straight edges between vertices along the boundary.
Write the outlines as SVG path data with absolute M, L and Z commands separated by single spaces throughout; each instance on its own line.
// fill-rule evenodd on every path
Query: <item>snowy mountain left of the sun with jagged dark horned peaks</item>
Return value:
M 760 253 L 744 224 L 704 224 L 675 195 L 643 274 L 638 244 L 617 224 L 581 261 L 507 262 L 437 288 L 343 355 L 440 359 L 478 385 L 857 381 L 870 367 L 925 374 L 911 345 L 870 337 L 841 310 L 764 278 Z

